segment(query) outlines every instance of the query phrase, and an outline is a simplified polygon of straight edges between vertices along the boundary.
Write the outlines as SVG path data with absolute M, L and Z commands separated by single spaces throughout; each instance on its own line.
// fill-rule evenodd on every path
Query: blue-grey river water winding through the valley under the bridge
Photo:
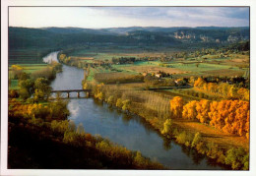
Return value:
M 45 59 L 46 57 L 48 59 Z M 57 52 L 52 52 L 44 59 L 56 61 L 56 57 Z M 51 87 L 56 90 L 82 88 L 83 78 L 82 69 L 63 65 L 63 72 L 57 74 Z M 162 138 L 140 117 L 109 108 L 106 103 L 97 102 L 93 98 L 76 98 L 75 92 L 70 96 L 69 119 L 76 125 L 82 123 L 87 133 L 98 134 L 131 150 L 139 150 L 144 156 L 159 161 L 169 169 L 224 169 L 198 154 L 194 149 L 181 147 Z

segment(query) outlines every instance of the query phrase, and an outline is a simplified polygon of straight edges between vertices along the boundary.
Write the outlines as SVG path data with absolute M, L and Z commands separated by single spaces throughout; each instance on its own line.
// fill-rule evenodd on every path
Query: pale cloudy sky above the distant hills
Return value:
M 248 7 L 9 7 L 9 26 L 249 27 Z

